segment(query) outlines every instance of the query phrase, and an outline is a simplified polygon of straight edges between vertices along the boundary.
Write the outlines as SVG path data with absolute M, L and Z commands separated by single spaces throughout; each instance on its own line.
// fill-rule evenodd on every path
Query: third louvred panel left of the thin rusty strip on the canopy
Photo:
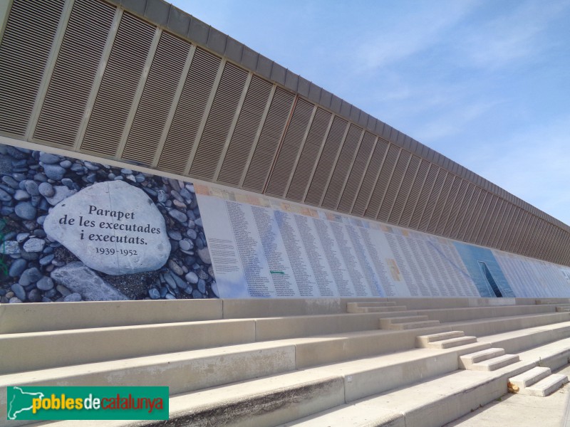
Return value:
M 214 178 L 246 80 L 246 70 L 232 63 L 226 63 L 190 167 L 191 175 L 208 180 Z

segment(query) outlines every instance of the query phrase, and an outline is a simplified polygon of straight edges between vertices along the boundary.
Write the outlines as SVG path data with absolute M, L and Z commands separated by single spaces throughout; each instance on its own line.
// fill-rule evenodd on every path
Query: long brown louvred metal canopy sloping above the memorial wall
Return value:
M 570 265 L 569 226 L 162 0 L 122 3 L 12 2 L 0 135 Z

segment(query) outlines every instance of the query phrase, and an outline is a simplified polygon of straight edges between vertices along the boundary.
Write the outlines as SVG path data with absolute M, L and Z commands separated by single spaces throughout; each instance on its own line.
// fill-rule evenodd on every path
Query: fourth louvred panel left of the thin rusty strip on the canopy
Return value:
M 158 167 L 183 174 L 216 80 L 220 58 L 196 48 Z

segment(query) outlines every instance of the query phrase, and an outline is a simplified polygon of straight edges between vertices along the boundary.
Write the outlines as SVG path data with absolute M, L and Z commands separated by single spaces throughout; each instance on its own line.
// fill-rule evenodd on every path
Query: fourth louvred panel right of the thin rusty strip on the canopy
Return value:
M 343 185 L 350 172 L 351 164 L 356 156 L 358 142 L 360 142 L 362 130 L 359 127 L 351 125 L 341 148 L 341 154 L 338 155 L 338 161 L 334 167 L 331 182 L 328 184 L 326 194 L 323 199 L 323 207 L 328 209 L 336 209 L 338 198 L 343 191 Z

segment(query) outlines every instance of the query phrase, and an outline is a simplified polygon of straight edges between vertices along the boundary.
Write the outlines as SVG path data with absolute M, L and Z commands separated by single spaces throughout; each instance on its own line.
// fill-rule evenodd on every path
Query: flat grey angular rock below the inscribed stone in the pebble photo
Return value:
M 69 290 L 77 292 L 86 301 L 128 300 L 128 297 L 125 297 L 122 292 L 113 288 L 79 261 L 56 268 L 51 272 L 51 278 L 58 285 L 63 285 Z

